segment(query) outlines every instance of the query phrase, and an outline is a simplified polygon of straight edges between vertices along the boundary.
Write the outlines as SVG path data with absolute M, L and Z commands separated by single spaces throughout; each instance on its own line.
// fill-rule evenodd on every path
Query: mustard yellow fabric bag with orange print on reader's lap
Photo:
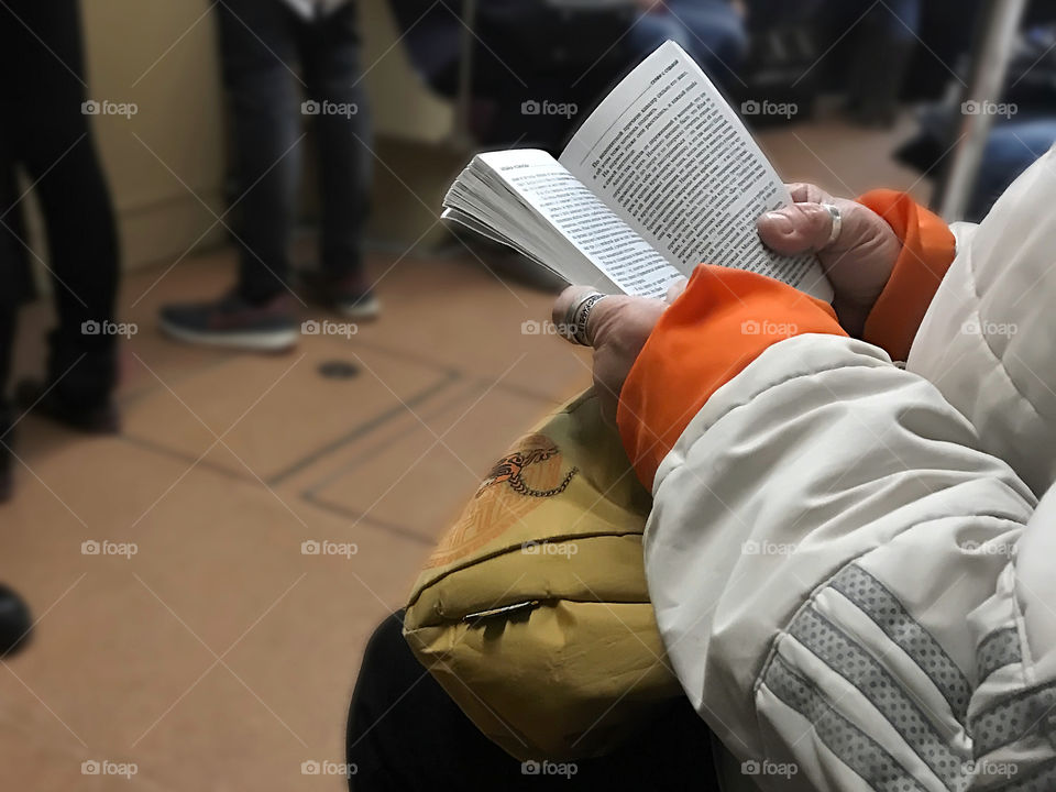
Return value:
M 518 759 L 604 754 L 682 695 L 646 590 L 650 505 L 587 391 L 514 444 L 415 583 L 408 644 Z

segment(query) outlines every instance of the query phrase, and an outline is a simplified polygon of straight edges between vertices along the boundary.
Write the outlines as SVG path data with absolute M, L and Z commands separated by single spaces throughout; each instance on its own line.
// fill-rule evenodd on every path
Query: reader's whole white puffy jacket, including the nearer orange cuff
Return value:
M 1053 207 L 1049 153 L 956 230 L 908 370 L 729 271 L 698 271 L 647 343 L 620 429 L 724 789 L 1056 790 Z M 729 352 L 760 318 L 791 330 Z M 671 361 L 693 333 L 703 375 Z

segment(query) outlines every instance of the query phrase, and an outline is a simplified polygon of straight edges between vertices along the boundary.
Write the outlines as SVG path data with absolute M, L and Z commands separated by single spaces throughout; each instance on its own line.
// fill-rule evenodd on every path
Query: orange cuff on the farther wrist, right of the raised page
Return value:
M 882 217 L 902 242 L 880 297 L 866 319 L 862 338 L 892 360 L 905 360 L 924 314 L 954 262 L 954 234 L 937 216 L 905 193 L 872 190 L 859 204 Z

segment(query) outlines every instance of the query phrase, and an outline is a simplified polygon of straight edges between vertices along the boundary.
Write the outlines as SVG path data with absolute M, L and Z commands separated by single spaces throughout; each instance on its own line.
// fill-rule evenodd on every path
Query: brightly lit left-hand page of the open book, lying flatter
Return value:
M 630 295 L 663 297 L 680 277 L 652 245 L 546 152 L 491 152 L 477 155 L 477 160 L 519 200 L 521 206 L 515 205 L 516 211 L 536 213 L 582 254 L 561 256 L 560 251 L 553 251 L 547 262 L 570 283 L 609 293 L 615 286 L 615 290 Z M 509 227 L 512 218 L 504 220 L 501 227 Z M 544 235 L 552 235 L 552 231 Z M 539 239 L 532 248 L 544 249 L 546 243 Z M 598 271 L 604 279 L 597 277 Z

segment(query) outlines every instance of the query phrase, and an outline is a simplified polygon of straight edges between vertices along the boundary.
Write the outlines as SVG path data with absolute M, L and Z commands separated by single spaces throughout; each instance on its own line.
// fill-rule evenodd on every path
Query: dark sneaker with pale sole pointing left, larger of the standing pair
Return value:
M 277 352 L 297 342 L 293 298 L 287 294 L 253 305 L 231 293 L 212 302 L 162 307 L 162 330 L 174 339 L 255 352 Z

